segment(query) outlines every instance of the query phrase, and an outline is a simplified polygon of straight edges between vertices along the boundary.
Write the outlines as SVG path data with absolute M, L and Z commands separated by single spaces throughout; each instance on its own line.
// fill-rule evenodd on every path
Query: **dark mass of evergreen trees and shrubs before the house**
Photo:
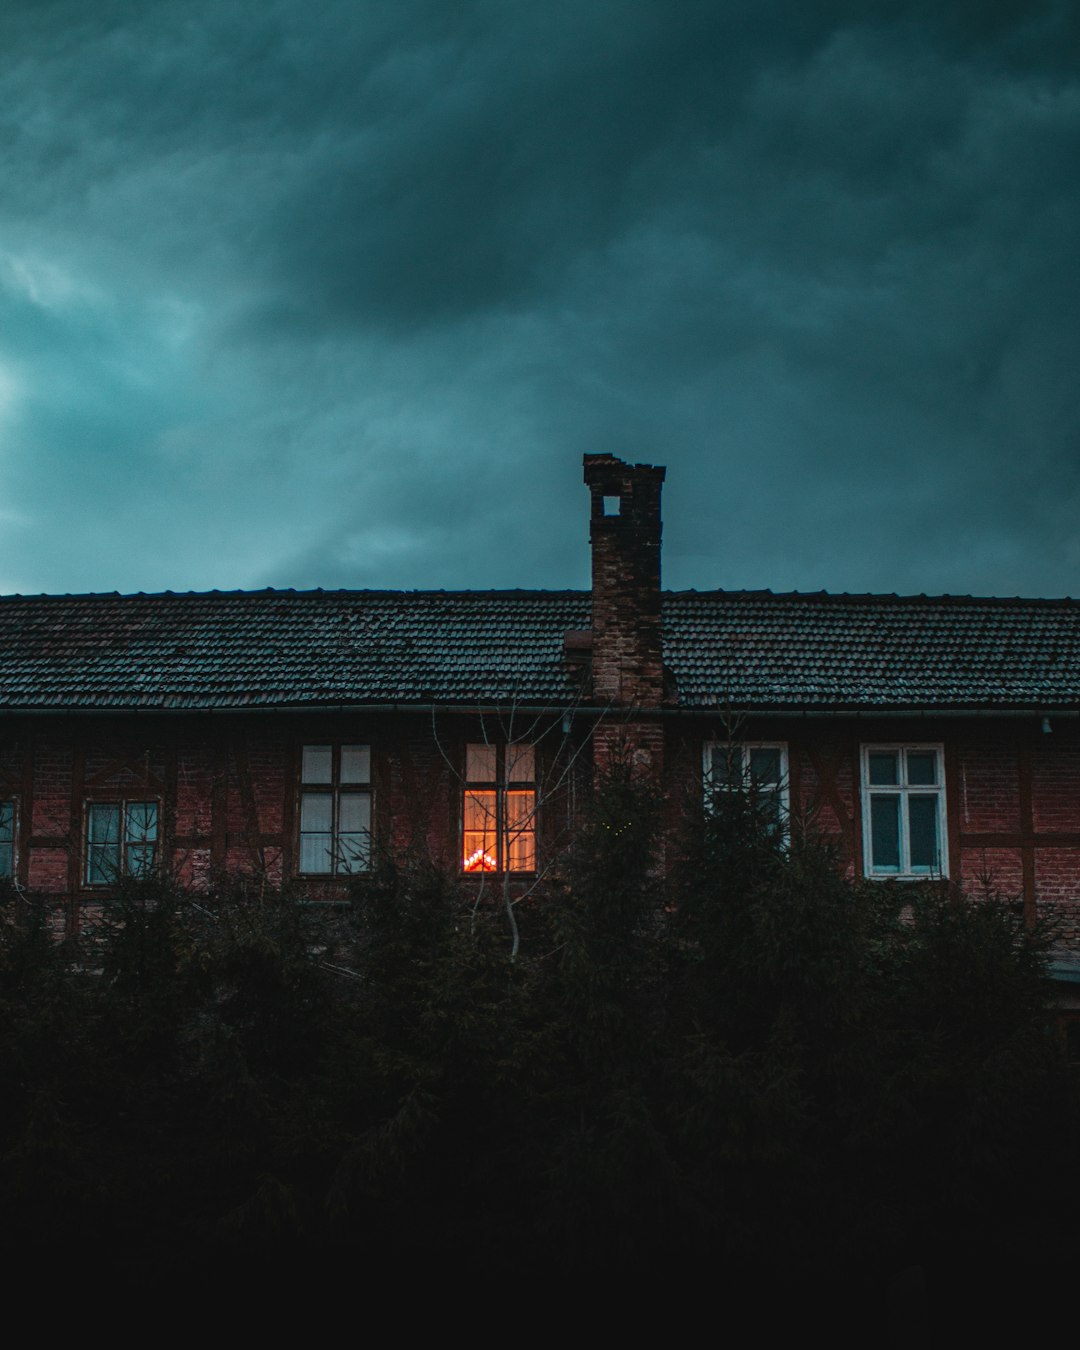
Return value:
M 0 922 L 12 1250 L 143 1278 L 284 1261 L 882 1278 L 1056 1258 L 1077 1094 L 1046 934 L 868 886 L 752 791 L 687 819 L 618 776 L 558 879 L 489 903 L 383 863 L 347 905 L 127 883 Z

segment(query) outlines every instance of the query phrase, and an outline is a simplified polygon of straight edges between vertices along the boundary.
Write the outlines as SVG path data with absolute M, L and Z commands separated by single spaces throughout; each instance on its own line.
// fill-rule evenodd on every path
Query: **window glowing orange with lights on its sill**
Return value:
M 462 869 L 536 871 L 536 751 L 466 745 Z

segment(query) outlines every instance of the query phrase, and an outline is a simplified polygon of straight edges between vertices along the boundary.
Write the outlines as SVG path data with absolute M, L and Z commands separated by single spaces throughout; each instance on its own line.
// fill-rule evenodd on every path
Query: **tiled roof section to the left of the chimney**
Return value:
M 0 599 L 0 707 L 566 703 L 544 591 L 209 591 Z

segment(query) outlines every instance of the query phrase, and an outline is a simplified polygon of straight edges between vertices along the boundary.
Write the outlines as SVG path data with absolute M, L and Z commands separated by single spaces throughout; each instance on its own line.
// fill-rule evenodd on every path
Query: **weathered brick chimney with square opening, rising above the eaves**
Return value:
M 660 489 L 664 470 L 586 455 L 593 498 L 593 698 L 660 707 Z

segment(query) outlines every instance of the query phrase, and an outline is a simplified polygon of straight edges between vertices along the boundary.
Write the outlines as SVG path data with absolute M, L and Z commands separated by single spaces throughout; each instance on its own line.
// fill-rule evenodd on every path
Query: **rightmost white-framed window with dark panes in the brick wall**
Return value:
M 863 747 L 863 857 L 868 876 L 946 876 L 940 745 Z

